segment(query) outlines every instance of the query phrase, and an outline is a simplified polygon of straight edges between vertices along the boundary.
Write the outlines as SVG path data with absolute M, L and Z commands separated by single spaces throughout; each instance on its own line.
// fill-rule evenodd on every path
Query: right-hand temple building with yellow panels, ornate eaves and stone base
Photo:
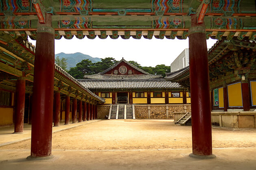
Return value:
M 208 50 L 212 125 L 256 127 L 256 43 L 219 40 Z M 190 88 L 189 66 L 166 80 Z

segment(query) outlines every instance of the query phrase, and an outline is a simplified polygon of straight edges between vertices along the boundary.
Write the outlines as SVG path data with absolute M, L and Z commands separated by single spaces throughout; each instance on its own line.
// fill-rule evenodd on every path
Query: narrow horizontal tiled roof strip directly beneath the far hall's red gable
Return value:
M 85 75 L 85 79 L 102 79 L 102 80 L 117 80 L 117 79 L 159 79 L 162 75 L 155 74 L 136 74 L 136 75 L 115 75 L 115 74 L 93 74 Z

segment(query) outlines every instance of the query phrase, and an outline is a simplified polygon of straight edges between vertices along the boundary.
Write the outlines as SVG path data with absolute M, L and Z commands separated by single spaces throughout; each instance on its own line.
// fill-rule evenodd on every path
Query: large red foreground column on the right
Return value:
M 212 155 L 212 129 L 208 54 L 204 23 L 191 15 L 189 28 L 189 77 L 193 155 Z

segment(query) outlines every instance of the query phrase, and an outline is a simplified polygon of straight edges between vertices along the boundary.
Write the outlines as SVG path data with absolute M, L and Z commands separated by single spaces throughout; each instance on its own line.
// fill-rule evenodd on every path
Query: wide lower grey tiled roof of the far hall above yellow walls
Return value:
M 148 80 L 78 80 L 82 85 L 90 90 L 102 89 L 182 89 L 178 83 L 165 81 L 165 79 Z

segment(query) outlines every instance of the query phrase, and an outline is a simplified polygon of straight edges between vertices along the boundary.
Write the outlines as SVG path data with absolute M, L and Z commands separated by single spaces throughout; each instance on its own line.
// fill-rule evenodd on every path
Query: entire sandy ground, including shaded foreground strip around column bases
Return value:
M 171 120 L 95 121 L 52 137 L 48 160 L 26 159 L 30 139 L 0 147 L 0 170 L 256 170 L 256 129 L 213 127 L 213 159 L 189 157 L 191 126 Z

